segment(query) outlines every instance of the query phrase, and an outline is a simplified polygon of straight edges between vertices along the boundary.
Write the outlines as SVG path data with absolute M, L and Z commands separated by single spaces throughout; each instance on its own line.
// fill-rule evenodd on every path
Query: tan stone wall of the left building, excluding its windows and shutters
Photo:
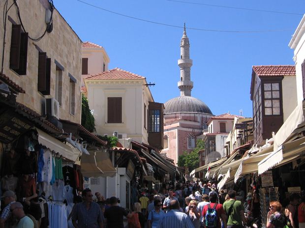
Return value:
M 22 23 L 32 38 L 37 38 L 43 34 L 46 23 L 46 9 L 42 3 L 45 0 L 22 0 L 17 1 L 20 9 Z M 3 11 L 4 2 L 0 2 L 0 10 Z M 10 6 L 13 0 L 8 0 Z M 47 5 L 47 4 L 46 4 Z M 20 24 L 16 7 L 13 5 L 8 12 L 8 16 L 16 23 Z M 3 18 L 0 17 L 0 25 L 3 25 Z M 19 76 L 9 68 L 10 45 L 11 45 L 12 22 L 6 21 L 6 37 L 4 49 L 4 66 L 3 74 L 11 78 L 14 82 L 20 85 L 25 91 L 25 94 L 19 94 L 17 101 L 25 104 L 39 114 L 42 114 L 41 103 L 45 98 L 55 98 L 55 80 L 56 80 L 56 64 L 55 60 L 64 68 L 62 72 L 62 104 L 60 107 L 60 118 L 70 120 L 75 123 L 81 122 L 81 57 L 82 57 L 82 41 L 77 34 L 62 18 L 60 13 L 54 9 L 53 11 L 53 30 L 51 33 L 46 33 L 45 36 L 37 42 L 29 39 L 28 54 L 27 54 L 27 74 Z M 2 50 L 4 32 L 0 30 L 0 43 Z M 50 95 L 43 96 L 37 91 L 37 74 L 38 74 L 38 47 L 41 51 L 46 52 L 48 58 L 51 58 L 51 86 Z M 0 53 L 2 59 L 2 51 Z M 76 78 L 75 86 L 75 115 L 70 114 L 69 102 L 69 83 L 68 74 Z

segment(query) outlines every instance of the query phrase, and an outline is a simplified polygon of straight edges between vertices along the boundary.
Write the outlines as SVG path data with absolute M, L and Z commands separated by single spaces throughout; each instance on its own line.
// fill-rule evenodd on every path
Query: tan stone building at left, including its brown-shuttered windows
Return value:
M 13 2 L 8 0 L 8 5 Z M 0 2 L 0 9 L 4 3 Z M 13 5 L 7 13 L 5 37 L 0 30 L 0 40 L 5 38 L 2 73 L 24 89 L 18 102 L 43 116 L 46 99 L 51 98 L 56 119 L 80 123 L 81 40 L 56 9 L 52 31 L 44 34 L 46 14 L 51 12 L 47 0 L 18 1 L 18 6 L 24 27 Z M 41 35 L 39 41 L 33 40 Z

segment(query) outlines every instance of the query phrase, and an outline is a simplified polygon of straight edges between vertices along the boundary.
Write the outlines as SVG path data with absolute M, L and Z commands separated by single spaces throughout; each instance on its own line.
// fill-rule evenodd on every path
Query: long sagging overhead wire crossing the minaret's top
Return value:
M 142 22 L 152 23 L 152 24 L 156 24 L 156 25 L 164 25 L 164 26 L 169 26 L 169 27 L 183 28 L 183 26 L 179 26 L 179 25 L 170 25 L 170 24 L 145 20 L 145 19 L 141 19 L 141 18 L 137 18 L 137 17 L 133 17 L 133 16 L 128 16 L 128 15 L 125 15 L 125 14 L 122 14 L 122 13 L 114 12 L 114 11 L 99 7 L 97 5 L 93 5 L 93 4 L 88 3 L 86 1 L 82 1 L 82 0 L 77 0 L 77 1 L 82 2 L 86 5 L 90 5 L 91 7 L 94 7 L 94 8 L 100 9 L 100 10 L 104 10 L 104 11 L 112 13 L 112 14 L 120 15 L 122 17 L 130 18 L 130 19 L 134 19 L 134 20 L 138 20 L 138 21 L 142 21 Z M 263 32 L 282 32 L 282 31 L 292 31 L 293 30 L 293 29 L 277 29 L 277 30 L 258 30 L 258 31 L 234 31 L 234 30 L 218 30 L 218 29 L 205 29 L 205 28 L 194 28 L 194 27 L 186 27 L 186 28 L 190 29 L 190 30 L 198 30 L 198 31 L 229 32 L 229 33 L 263 33 Z

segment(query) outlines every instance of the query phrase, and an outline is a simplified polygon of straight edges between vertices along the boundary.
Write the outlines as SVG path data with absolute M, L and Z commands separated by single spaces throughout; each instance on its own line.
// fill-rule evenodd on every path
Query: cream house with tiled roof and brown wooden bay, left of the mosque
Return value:
M 87 77 L 85 84 L 97 134 L 118 134 L 155 146 L 163 143 L 163 104 L 153 101 L 145 77 L 115 68 Z M 154 133 L 158 142 L 153 142 Z

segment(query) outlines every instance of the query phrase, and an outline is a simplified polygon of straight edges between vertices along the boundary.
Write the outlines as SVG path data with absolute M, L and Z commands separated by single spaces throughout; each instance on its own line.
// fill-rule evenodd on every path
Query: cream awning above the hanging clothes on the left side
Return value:
M 76 148 L 71 148 L 68 145 L 64 144 L 60 140 L 52 137 L 51 135 L 43 132 L 36 128 L 38 133 L 38 142 L 39 144 L 49 148 L 51 151 L 58 152 L 65 159 L 75 162 L 77 158 L 81 155 L 81 152 Z

